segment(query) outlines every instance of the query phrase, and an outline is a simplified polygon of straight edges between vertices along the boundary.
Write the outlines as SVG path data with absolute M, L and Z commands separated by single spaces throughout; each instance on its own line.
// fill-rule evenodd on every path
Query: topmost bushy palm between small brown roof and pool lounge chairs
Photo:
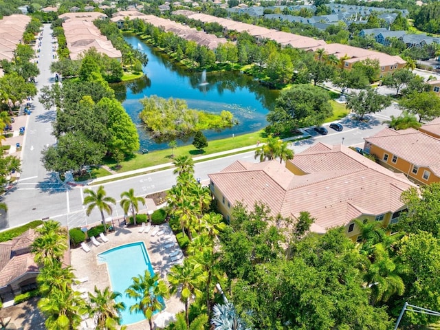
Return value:
M 38 265 L 61 263 L 67 250 L 67 234 L 61 223 L 48 220 L 35 230 L 39 235 L 32 243 L 32 253 Z

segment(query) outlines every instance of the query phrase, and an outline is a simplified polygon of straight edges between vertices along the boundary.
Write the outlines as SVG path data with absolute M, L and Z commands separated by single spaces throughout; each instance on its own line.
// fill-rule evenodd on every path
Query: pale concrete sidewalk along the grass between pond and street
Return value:
M 307 139 L 307 138 L 311 137 L 311 135 L 309 135 L 309 133 L 307 133 L 303 129 L 300 129 L 300 131 L 303 132 L 303 135 L 296 135 L 294 137 L 287 137 L 286 139 L 283 139 L 283 141 L 303 140 L 303 139 Z M 263 143 L 259 144 L 259 146 L 261 146 L 261 145 L 264 145 L 264 144 Z M 251 145 L 251 146 L 243 146 L 241 148 L 231 149 L 231 150 L 227 150 L 227 151 L 221 151 L 220 153 L 210 153 L 208 155 L 197 156 L 197 157 L 194 157 L 193 159 L 194 159 L 194 162 L 199 162 L 204 159 L 217 158 L 217 157 L 221 157 L 221 156 L 232 155 L 234 153 L 243 153 L 246 151 L 251 151 L 257 147 L 258 146 L 256 144 Z M 105 177 L 98 177 L 96 179 L 87 181 L 87 183 L 84 183 L 84 184 L 98 184 L 99 182 L 102 182 L 102 181 L 120 179 L 121 177 L 127 177 L 127 176 L 142 175 L 146 172 L 163 170 L 163 169 L 166 169 L 169 167 L 174 167 L 174 164 L 172 162 L 169 162 L 169 163 L 165 163 L 165 164 L 159 164 L 159 165 L 155 165 L 155 166 L 139 168 L 137 170 L 129 170 L 129 171 L 122 172 L 122 173 L 107 175 Z

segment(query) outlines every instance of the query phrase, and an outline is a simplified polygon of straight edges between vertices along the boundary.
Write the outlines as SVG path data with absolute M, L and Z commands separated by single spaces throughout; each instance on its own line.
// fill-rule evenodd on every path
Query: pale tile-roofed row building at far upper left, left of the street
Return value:
M 0 19 L 0 60 L 11 61 L 15 48 L 21 43 L 30 17 L 23 14 L 13 14 Z

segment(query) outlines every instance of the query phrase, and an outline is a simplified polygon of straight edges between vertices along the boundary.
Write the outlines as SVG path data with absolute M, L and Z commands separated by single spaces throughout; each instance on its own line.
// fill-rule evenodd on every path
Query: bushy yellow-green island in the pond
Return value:
M 191 135 L 195 131 L 225 129 L 238 124 L 230 111 L 223 110 L 218 115 L 188 109 L 185 100 L 152 95 L 140 102 L 144 108 L 139 117 L 153 139 L 173 139 Z

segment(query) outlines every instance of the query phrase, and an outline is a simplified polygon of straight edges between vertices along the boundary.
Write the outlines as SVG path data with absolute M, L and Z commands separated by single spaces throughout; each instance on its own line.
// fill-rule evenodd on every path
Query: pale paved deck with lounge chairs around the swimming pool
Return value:
M 91 250 L 90 252 L 86 253 L 81 248 L 72 249 L 71 261 L 72 267 L 74 267 L 76 278 L 88 278 L 87 281 L 78 285 L 76 289 L 85 292 L 94 292 L 95 285 L 98 287 L 98 289 L 111 287 L 109 274 L 107 272 L 107 264 L 98 263 L 97 255 L 119 245 L 140 241 L 144 242 L 145 244 L 155 274 L 159 274 L 161 278 L 166 281 L 166 275 L 168 274 L 170 267 L 174 264 L 170 260 L 171 258 L 168 256 L 168 254 L 172 250 L 179 249 L 179 246 L 177 243 L 175 243 L 176 248 L 164 248 L 164 246 L 169 243 L 169 240 L 174 242 L 176 241 L 175 235 L 168 226 L 168 223 L 159 225 L 159 228 L 164 230 L 164 234 L 161 236 L 151 236 L 151 232 L 153 232 L 155 227 L 155 225 L 152 225 L 151 230 L 148 233 L 140 233 L 140 226 L 124 228 L 123 225 L 118 225 L 115 227 L 114 232 L 109 232 L 107 234 L 107 239 L 109 239 L 109 242 L 101 243 L 100 239 L 98 239 L 98 241 L 101 243 L 99 246 L 92 245 L 91 242 L 87 243 Z M 124 294 L 123 292 L 120 293 Z M 184 311 L 184 304 L 181 303 L 179 298 L 176 296 L 172 296 L 171 298 L 167 299 L 165 303 L 166 309 L 164 309 L 164 311 L 170 314 L 177 314 L 179 311 Z M 129 308 L 129 306 L 126 308 Z M 162 312 L 153 317 L 153 322 L 160 314 L 162 314 Z M 148 328 L 148 321 L 144 320 L 142 322 L 129 325 L 126 329 L 143 330 L 146 328 Z

